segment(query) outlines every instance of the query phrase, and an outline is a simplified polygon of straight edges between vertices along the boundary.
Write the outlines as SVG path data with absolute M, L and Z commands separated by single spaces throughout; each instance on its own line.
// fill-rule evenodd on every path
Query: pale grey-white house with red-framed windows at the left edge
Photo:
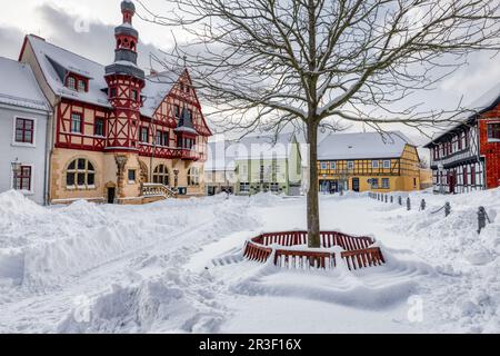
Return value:
M 0 58 L 0 192 L 44 204 L 49 105 L 29 66 Z

